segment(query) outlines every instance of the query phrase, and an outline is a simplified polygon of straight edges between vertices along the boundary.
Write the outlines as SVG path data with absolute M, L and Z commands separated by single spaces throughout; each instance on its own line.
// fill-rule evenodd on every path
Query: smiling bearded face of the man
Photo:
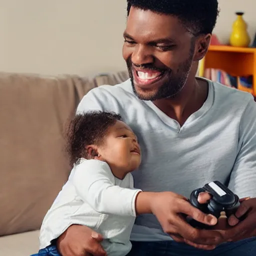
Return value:
M 181 91 L 193 60 L 191 37 L 177 17 L 131 7 L 122 54 L 140 99 L 174 98 Z

